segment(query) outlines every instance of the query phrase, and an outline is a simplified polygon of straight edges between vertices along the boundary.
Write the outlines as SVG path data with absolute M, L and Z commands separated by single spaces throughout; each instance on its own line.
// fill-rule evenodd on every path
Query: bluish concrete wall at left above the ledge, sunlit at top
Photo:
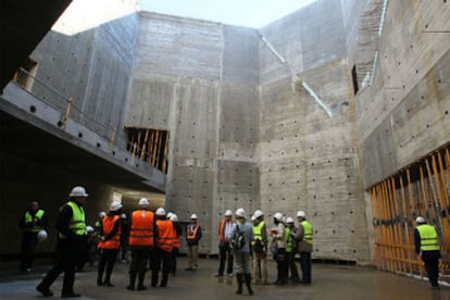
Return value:
M 104 137 L 118 128 L 116 142 L 125 147 L 122 118 L 137 28 L 133 0 L 74 1 L 32 53 L 37 79 L 52 87 L 35 83 L 33 93 L 62 113 L 72 98 L 73 120 Z

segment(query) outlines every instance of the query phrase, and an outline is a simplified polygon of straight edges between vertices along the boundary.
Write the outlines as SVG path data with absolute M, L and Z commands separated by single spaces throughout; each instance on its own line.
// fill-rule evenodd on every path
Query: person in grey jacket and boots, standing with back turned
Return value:
M 253 228 L 247 221 L 246 211 L 240 208 L 235 212 L 236 224 L 232 227 L 229 233 L 230 240 L 235 240 L 237 235 L 243 237 L 243 246 L 240 249 L 234 247 L 233 255 L 235 259 L 235 272 L 238 288 L 236 293 L 242 293 L 242 285 L 246 283 L 249 295 L 253 295 L 251 287 L 251 241 L 253 240 Z

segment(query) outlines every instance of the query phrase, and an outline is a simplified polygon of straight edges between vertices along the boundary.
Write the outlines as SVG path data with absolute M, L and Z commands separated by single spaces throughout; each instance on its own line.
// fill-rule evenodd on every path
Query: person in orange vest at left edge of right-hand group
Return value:
M 224 276 L 225 271 L 225 262 L 227 263 L 226 274 L 228 277 L 233 277 L 233 251 L 229 245 L 229 233 L 232 232 L 232 227 L 235 223 L 233 222 L 233 212 L 230 210 L 226 210 L 224 218 L 221 221 L 218 225 L 218 271 L 214 275 L 216 277 Z

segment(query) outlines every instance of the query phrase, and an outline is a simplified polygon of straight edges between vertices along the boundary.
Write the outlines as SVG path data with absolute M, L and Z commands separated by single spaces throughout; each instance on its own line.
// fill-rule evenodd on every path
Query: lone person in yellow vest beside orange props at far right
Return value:
M 439 236 L 436 228 L 426 223 L 423 216 L 417 216 L 417 226 L 414 229 L 415 253 L 425 264 L 426 274 L 432 287 L 439 289 Z

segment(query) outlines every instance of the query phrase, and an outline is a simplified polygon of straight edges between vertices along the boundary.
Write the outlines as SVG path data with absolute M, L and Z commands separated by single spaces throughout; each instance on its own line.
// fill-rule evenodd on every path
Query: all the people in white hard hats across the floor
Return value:
M 74 291 L 75 271 L 80 257 L 88 252 L 88 228 L 84 204 L 88 198 L 86 189 L 76 186 L 70 192 L 70 200 L 59 211 L 55 227 L 58 229 L 57 259 L 36 289 L 46 297 L 52 296 L 50 287 L 64 272 L 62 298 L 80 297 Z M 133 211 L 123 226 L 122 203 L 113 201 L 109 213 L 100 222 L 100 234 L 97 247 L 100 250 L 98 265 L 98 286 L 112 287 L 112 272 L 117 253 L 127 237 L 127 246 L 132 253 L 129 264 L 128 290 L 143 290 L 145 275 L 151 271 L 151 286 L 166 287 L 168 275 L 175 275 L 176 257 L 180 246 L 182 227 L 174 213 L 166 213 L 159 208 L 154 213 L 149 210 L 149 200 L 141 198 L 137 210 Z M 267 229 L 264 213 L 258 210 L 248 221 L 246 211 L 238 209 L 233 214 L 227 210 L 220 224 L 220 266 L 216 276 L 226 274 L 237 278 L 236 293 L 242 293 L 246 284 L 249 295 L 253 295 L 252 284 L 267 285 L 267 254 L 272 252 L 277 263 L 275 285 L 286 285 L 289 279 L 304 285 L 311 284 L 311 252 L 313 251 L 313 227 L 303 211 L 296 214 L 298 226 L 292 217 L 285 217 L 280 212 L 273 215 L 274 226 Z M 186 271 L 198 267 L 198 247 L 202 236 L 197 224 L 197 215 L 192 214 L 186 226 L 186 245 L 188 265 Z M 440 258 L 438 234 L 424 217 L 416 218 L 414 232 L 415 251 L 425 263 L 425 268 L 433 287 L 438 287 L 438 261 Z M 42 233 L 47 236 L 48 221 L 43 210 L 37 202 L 32 202 L 28 211 L 21 218 L 24 229 L 21 268 L 33 268 L 33 254 Z M 300 279 L 295 257 L 300 253 Z M 225 265 L 227 262 L 227 265 Z M 161 272 L 162 271 L 162 272 Z M 162 273 L 161 282 L 159 274 Z M 290 272 L 290 277 L 289 277 Z M 137 279 L 137 286 L 136 286 Z M 159 284 L 159 285 L 158 285 Z

